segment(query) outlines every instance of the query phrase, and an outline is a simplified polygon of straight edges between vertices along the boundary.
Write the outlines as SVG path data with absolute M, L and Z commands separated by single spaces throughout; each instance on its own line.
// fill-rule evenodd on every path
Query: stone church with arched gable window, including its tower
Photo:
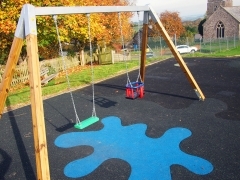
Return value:
M 240 6 L 232 0 L 208 0 L 207 19 L 203 24 L 203 40 L 240 35 Z

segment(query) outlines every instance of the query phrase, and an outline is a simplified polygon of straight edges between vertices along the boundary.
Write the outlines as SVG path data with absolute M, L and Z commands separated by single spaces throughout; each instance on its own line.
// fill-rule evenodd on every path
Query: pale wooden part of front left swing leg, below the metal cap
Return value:
M 39 180 L 48 180 L 50 179 L 50 172 L 40 80 L 40 65 L 38 59 L 37 35 L 28 35 L 26 37 L 26 41 L 37 177 Z

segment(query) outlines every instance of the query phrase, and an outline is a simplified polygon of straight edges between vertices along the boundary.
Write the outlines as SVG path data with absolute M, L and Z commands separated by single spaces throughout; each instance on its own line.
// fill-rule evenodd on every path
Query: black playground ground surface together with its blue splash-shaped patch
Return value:
M 125 97 L 126 74 L 96 83 L 100 120 L 83 130 L 69 93 L 44 100 L 51 179 L 240 179 L 239 58 L 184 60 L 204 101 L 174 58 L 146 67 L 143 98 Z M 73 96 L 86 119 L 91 86 Z M 0 179 L 36 179 L 30 106 L 0 126 Z

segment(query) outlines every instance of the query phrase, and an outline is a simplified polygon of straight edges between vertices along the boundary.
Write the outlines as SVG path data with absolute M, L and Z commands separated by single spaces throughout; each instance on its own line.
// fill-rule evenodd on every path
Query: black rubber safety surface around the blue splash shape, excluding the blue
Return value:
M 174 127 L 189 129 L 192 135 L 181 142 L 181 150 L 208 160 L 213 170 L 206 175 L 197 175 L 175 164 L 169 167 L 173 180 L 239 180 L 240 58 L 184 60 L 206 96 L 205 101 L 198 100 L 177 61 L 172 58 L 146 68 L 142 99 L 125 98 L 126 74 L 96 83 L 97 116 L 100 119 L 117 116 L 123 126 L 146 124 L 145 134 L 149 138 L 159 138 Z M 138 71 L 130 72 L 130 79 L 135 81 L 137 74 Z M 73 97 L 79 118 L 90 117 L 91 86 L 74 91 Z M 90 155 L 94 149 L 81 146 L 66 150 L 54 144 L 59 135 L 79 131 L 73 128 L 75 114 L 68 93 L 45 100 L 44 112 L 51 179 L 72 179 L 64 174 L 66 164 Z M 30 106 L 5 113 L 0 127 L 0 179 L 36 179 Z M 99 121 L 82 132 L 102 128 Z M 92 173 L 74 179 L 119 180 L 128 179 L 130 174 L 131 164 L 121 159 L 109 159 Z

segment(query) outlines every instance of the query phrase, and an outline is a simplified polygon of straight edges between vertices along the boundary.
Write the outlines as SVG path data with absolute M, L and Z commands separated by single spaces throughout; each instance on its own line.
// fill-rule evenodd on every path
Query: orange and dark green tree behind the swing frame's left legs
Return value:
M 20 12 L 24 4 L 32 3 L 34 6 L 59 6 L 59 5 L 70 5 L 69 1 L 63 1 L 61 3 L 58 0 L 52 1 L 28 1 L 28 0 L 8 0 L 1 2 L 0 9 L 0 63 L 4 63 L 7 60 L 7 55 L 10 51 L 16 25 L 20 17 Z M 54 29 L 53 21 L 51 17 L 37 17 L 38 26 L 38 45 L 39 55 L 51 57 L 58 54 L 58 50 L 55 50 L 56 41 L 56 30 Z M 21 51 L 21 57 L 26 57 L 26 50 L 23 47 Z

